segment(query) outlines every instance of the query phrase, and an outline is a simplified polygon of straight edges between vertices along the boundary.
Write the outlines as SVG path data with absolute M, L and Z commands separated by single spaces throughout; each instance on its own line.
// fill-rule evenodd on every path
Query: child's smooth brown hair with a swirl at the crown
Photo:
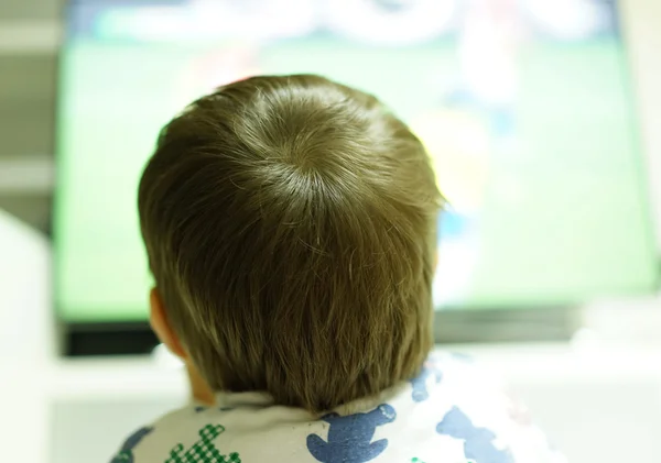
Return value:
M 156 287 L 203 377 L 313 411 L 422 366 L 440 206 L 409 129 L 311 75 L 195 101 L 161 132 L 139 191 Z

